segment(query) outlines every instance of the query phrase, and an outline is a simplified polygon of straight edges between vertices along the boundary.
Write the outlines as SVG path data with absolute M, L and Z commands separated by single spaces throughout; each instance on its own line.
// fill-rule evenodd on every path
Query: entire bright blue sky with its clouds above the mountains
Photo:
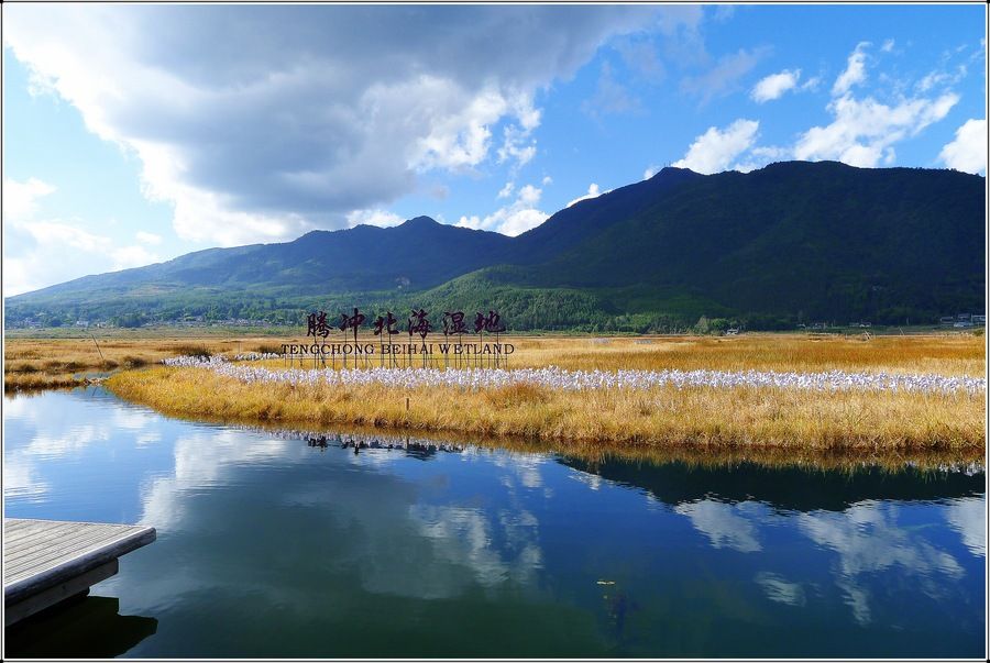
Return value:
M 986 173 L 982 4 L 3 12 L 4 295 L 666 165 Z

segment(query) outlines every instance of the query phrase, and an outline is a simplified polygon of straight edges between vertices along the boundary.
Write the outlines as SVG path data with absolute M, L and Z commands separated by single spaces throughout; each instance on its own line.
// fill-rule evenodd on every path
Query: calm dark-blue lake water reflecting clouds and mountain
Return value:
M 3 405 L 7 516 L 158 531 L 8 654 L 983 655 L 982 471 L 355 454 L 94 388 Z

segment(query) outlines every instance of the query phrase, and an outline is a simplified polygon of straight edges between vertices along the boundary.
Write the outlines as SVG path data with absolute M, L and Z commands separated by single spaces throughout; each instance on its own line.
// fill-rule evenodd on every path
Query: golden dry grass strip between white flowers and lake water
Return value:
M 118 374 L 121 397 L 169 415 L 321 427 L 359 424 L 564 444 L 773 446 L 818 451 L 982 449 L 981 396 L 658 388 L 469 391 L 381 385 L 243 384 L 201 368 Z M 406 409 L 408 398 L 409 408 Z

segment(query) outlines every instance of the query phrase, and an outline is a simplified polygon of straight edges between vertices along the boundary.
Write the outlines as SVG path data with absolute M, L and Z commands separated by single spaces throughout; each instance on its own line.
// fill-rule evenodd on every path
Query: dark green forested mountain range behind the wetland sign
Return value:
M 834 162 L 664 168 L 516 237 L 418 217 L 210 248 L 9 298 L 6 324 L 299 324 L 353 306 L 495 309 L 518 330 L 931 322 L 982 311 L 985 189 L 955 170 Z

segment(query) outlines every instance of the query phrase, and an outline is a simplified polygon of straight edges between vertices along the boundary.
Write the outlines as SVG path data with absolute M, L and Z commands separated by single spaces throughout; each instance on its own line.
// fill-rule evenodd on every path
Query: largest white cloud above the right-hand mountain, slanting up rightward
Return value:
M 794 157 L 837 159 L 865 168 L 876 167 L 881 161 L 891 163 L 894 143 L 942 120 L 958 101 L 958 95 L 949 92 L 936 99 L 905 99 L 887 106 L 873 98 L 858 100 L 843 95 L 828 104 L 835 120 L 804 132 L 794 145 Z

